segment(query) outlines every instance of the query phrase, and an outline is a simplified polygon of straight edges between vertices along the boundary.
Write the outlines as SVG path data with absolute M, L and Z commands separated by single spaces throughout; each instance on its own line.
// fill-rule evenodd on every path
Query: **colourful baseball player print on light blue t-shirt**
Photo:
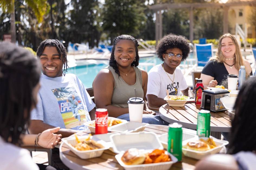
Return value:
M 73 87 L 51 89 L 57 98 L 65 127 L 72 129 L 86 122 L 86 112 L 80 97 Z

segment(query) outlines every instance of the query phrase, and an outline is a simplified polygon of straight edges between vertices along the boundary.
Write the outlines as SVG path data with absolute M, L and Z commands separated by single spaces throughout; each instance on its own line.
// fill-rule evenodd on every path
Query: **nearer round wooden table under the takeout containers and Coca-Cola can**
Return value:
M 168 132 L 168 126 L 164 125 L 148 125 L 144 131 L 154 132 L 157 135 L 165 134 Z M 190 130 L 191 131 L 191 130 Z M 77 133 L 77 135 L 88 135 L 90 130 Z M 196 133 L 194 131 L 194 133 Z M 84 170 L 84 169 L 106 169 L 106 170 L 121 170 L 124 169 L 118 164 L 115 159 L 115 153 L 110 150 L 105 150 L 101 157 L 91 158 L 91 159 L 81 159 L 76 154 L 74 154 L 67 147 L 66 144 L 62 143 L 60 145 L 60 159 L 61 161 L 70 169 Z M 182 161 L 177 162 L 171 166 L 170 169 L 194 169 L 197 160 L 189 157 L 182 156 Z

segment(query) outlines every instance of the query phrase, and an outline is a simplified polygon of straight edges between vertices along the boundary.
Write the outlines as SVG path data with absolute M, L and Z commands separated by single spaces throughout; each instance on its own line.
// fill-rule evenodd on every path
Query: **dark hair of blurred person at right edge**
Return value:
M 235 117 L 229 134 L 229 154 L 256 151 L 256 78 L 246 80 L 235 102 Z

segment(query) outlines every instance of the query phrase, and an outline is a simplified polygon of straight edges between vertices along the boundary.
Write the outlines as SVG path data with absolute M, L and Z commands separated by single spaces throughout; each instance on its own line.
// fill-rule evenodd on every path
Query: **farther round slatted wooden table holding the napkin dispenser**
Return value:
M 195 103 L 186 103 L 183 107 L 174 107 L 164 104 L 159 108 L 160 117 L 169 123 L 180 123 L 184 128 L 196 129 L 197 114 L 201 110 Z M 221 132 L 230 132 L 232 114 L 228 111 L 210 112 L 211 135 L 221 138 Z

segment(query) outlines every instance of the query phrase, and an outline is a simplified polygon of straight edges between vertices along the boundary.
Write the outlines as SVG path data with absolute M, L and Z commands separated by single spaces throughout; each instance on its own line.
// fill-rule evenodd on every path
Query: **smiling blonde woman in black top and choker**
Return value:
M 206 87 L 217 85 L 228 88 L 228 74 L 239 74 L 240 66 L 245 66 L 246 77 L 252 74 L 250 63 L 242 57 L 237 40 L 230 33 L 221 36 L 216 55 L 204 66 L 201 79 Z

